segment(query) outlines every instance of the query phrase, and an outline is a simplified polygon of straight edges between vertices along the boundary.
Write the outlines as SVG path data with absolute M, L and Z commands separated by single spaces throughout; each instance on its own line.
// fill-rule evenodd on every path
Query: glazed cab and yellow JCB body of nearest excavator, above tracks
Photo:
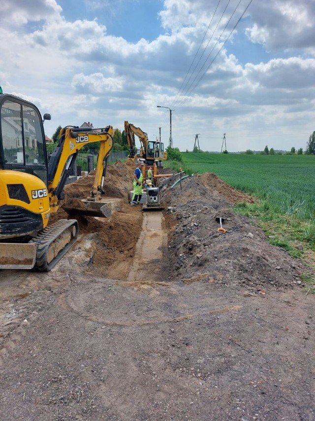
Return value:
M 47 154 L 37 108 L 0 95 L 0 238 L 29 235 L 48 224 Z

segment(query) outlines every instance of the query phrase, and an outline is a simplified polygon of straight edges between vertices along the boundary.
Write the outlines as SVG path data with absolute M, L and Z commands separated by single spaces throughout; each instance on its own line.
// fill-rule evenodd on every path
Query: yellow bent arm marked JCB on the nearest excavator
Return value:
M 96 132 L 97 131 L 97 132 Z M 60 131 L 59 143 L 48 163 L 48 194 L 50 198 L 51 212 L 57 212 L 60 200 L 63 200 L 63 188 L 75 163 L 75 158 L 80 149 L 85 145 L 100 142 L 100 150 L 97 159 L 95 181 L 91 196 L 96 196 L 104 176 L 104 160 L 113 148 L 113 127 L 64 127 Z

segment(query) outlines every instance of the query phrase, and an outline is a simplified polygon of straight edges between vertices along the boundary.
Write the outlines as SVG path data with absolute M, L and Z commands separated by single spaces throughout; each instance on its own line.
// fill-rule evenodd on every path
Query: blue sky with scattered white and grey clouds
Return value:
M 1 0 L 0 86 L 49 137 L 127 120 L 166 147 L 171 120 L 180 151 L 305 150 L 314 22 L 314 0 Z

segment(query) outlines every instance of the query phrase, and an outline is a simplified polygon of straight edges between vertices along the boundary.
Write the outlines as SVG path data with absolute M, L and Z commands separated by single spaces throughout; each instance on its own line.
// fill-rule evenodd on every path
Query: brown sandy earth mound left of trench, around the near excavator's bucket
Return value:
M 107 167 L 104 181 L 105 200 L 106 197 L 118 199 L 110 218 L 75 216 L 79 232 L 84 234 L 78 247 L 80 242 L 86 239 L 91 242 L 90 273 L 93 271 L 95 274 L 108 275 L 112 270 L 113 277 L 121 279 L 128 272 L 128 264 L 119 266 L 119 263 L 128 262 L 133 258 L 142 226 L 141 208 L 133 208 L 127 202 L 127 196 L 132 189 L 135 167 L 136 165 L 130 161 L 127 163 L 118 161 Z M 84 208 L 86 205 L 81 199 L 90 195 L 94 178 L 95 171 L 91 171 L 87 176 L 66 185 L 65 199 L 61 204 Z M 58 212 L 51 216 L 50 223 L 61 218 L 68 218 L 68 215 L 60 207 Z M 85 263 L 83 266 L 86 268 Z

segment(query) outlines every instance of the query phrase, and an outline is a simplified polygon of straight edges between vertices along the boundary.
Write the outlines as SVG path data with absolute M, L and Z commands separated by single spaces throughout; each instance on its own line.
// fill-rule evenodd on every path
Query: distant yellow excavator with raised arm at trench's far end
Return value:
M 167 153 L 164 151 L 164 144 L 158 141 L 149 141 L 148 135 L 133 124 L 125 121 L 125 135 L 129 147 L 129 158 L 143 160 L 147 165 L 162 166 L 162 161 L 167 159 Z M 140 152 L 137 153 L 137 148 L 134 142 L 136 135 L 140 141 Z

